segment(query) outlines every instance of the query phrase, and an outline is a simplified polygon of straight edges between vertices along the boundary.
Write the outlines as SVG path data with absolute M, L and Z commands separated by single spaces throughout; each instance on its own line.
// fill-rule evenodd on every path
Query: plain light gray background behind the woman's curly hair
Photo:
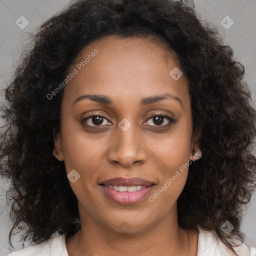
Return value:
M 42 21 L 59 11 L 68 2 L 68 0 L 0 0 L 0 89 L 11 77 L 15 61 L 19 58 L 19 50 L 22 44 L 27 42 L 28 32 L 33 32 Z M 218 28 L 224 42 L 232 47 L 237 60 L 244 65 L 245 80 L 254 95 L 252 104 L 255 107 L 256 0 L 194 0 L 194 3 L 198 15 Z M 234 22 L 232 26 L 230 26 L 232 20 L 226 18 L 227 15 Z M 23 29 L 15 23 L 16 20 L 20 22 L 20 16 L 24 16 L 29 21 Z M 221 24 L 221 20 L 226 28 Z M 24 24 L 25 21 L 22 20 L 20 26 Z M 11 224 L 4 193 L 7 186 L 8 184 L 0 180 L 0 256 L 9 252 L 7 242 Z M 242 231 L 246 234 L 245 240 L 254 247 L 256 247 L 255 209 L 256 193 L 253 194 L 247 210 L 244 211 L 242 223 Z M 13 240 L 15 250 L 21 248 L 19 237 L 13 237 Z

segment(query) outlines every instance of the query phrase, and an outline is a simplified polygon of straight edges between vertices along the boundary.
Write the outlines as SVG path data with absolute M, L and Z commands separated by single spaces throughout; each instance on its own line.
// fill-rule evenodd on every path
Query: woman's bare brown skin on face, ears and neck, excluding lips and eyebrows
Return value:
M 174 80 L 169 72 L 181 70 L 177 55 L 169 46 L 150 37 L 120 38 L 112 35 L 86 45 L 75 64 L 95 48 L 95 57 L 64 88 L 61 130 L 55 134 L 54 149 L 65 163 L 66 173 L 75 169 L 80 177 L 70 186 L 78 199 L 81 228 L 66 238 L 73 255 L 196 255 L 197 231 L 181 229 L 176 201 L 187 171 L 154 202 L 148 197 L 199 149 L 192 133 L 188 80 Z M 140 106 L 144 97 L 169 93 L 178 97 Z M 74 101 L 83 94 L 111 98 L 104 105 L 90 99 Z M 157 125 L 155 112 L 172 117 Z M 104 115 L 96 126 L 93 113 Z M 123 131 L 118 123 L 126 118 L 131 127 Z M 166 125 L 165 125 L 166 124 Z M 165 125 L 165 127 L 164 127 Z M 193 135 L 193 136 L 192 136 Z M 198 157 L 197 157 L 198 159 Z M 150 194 L 132 205 L 120 205 L 107 198 L 99 183 L 113 177 L 140 177 L 155 184 Z M 129 228 L 121 231 L 126 221 Z

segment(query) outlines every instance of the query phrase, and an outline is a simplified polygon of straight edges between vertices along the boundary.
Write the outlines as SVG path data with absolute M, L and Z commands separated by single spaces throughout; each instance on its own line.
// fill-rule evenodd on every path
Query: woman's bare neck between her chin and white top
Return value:
M 69 256 L 79 255 L 197 255 L 198 232 L 180 228 L 177 221 L 162 219 L 141 232 L 122 233 L 90 220 L 66 237 Z

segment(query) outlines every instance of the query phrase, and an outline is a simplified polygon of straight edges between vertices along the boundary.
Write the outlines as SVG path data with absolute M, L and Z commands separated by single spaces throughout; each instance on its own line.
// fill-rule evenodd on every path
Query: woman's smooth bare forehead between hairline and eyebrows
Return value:
M 188 80 L 177 54 L 154 37 L 111 35 L 95 40 L 82 49 L 70 71 L 73 68 L 77 73 L 64 92 L 73 101 L 82 94 L 104 94 L 131 104 L 166 92 L 189 101 Z M 182 75 L 175 80 L 173 72 Z

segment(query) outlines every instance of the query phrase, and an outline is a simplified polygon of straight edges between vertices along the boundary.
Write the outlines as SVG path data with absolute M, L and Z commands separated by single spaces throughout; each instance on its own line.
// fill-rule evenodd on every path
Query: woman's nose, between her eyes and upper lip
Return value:
M 142 164 L 146 161 L 146 148 L 135 125 L 131 125 L 126 131 L 117 126 L 116 133 L 109 143 L 107 159 L 110 163 L 132 167 L 134 164 Z

